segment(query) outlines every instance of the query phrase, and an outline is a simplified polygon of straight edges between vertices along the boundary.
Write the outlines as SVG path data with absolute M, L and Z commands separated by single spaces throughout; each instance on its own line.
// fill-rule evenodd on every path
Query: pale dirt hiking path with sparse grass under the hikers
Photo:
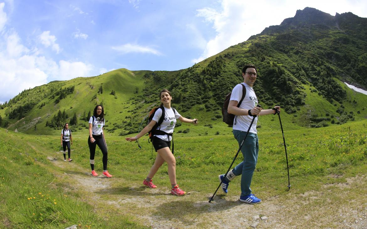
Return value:
M 30 146 L 46 155 L 46 149 Z M 75 161 L 63 161 L 61 152 L 47 155 L 55 176 L 68 181 L 65 189 L 86 191 L 84 200 L 88 203 L 111 206 L 150 228 L 367 228 L 366 175 L 324 185 L 323 191 L 311 188 L 306 193 L 262 198 L 254 205 L 218 190 L 215 202 L 208 203 L 212 193 L 204 194 L 205 201 L 203 192 L 172 196 L 167 187 L 149 189 L 127 178 L 92 177 Z

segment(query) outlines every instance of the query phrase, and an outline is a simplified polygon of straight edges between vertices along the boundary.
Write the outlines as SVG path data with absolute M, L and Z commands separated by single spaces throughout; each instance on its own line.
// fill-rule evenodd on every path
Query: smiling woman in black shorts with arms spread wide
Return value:
M 171 135 L 176 124 L 176 119 L 184 123 L 193 124 L 197 124 L 197 119 L 186 119 L 182 117 L 176 110 L 173 110 L 171 108 L 172 97 L 170 91 L 166 89 L 162 90 L 159 94 L 159 97 L 161 100 L 161 106 L 163 106 L 164 108 L 165 117 L 162 124 L 157 129 L 166 132 L 168 135 L 164 135 L 164 133 L 160 131 L 158 134 L 154 134 L 153 132 L 152 143 L 157 152 L 157 157 L 152 168 L 150 168 L 148 176 L 146 177 L 146 179 L 144 179 L 143 184 L 148 186 L 149 188 L 157 188 L 157 186 L 153 184 L 152 178 L 156 174 L 158 169 L 162 166 L 164 161 L 166 161 L 168 164 L 168 177 L 170 178 L 171 182 L 171 194 L 182 196 L 185 195 L 186 192 L 182 191 L 178 187 L 176 182 L 176 159 L 170 150 L 172 139 Z M 140 131 L 140 133 L 137 134 L 135 137 L 126 138 L 126 140 L 132 142 L 144 136 L 146 133 L 152 130 L 152 128 L 159 121 L 161 116 L 162 109 L 157 109 L 152 121 L 150 121 L 148 126 L 144 127 L 143 130 Z

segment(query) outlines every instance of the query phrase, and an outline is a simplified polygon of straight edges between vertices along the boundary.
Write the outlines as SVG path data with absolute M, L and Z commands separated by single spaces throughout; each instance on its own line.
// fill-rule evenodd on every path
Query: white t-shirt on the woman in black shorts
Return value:
M 173 133 L 173 129 L 175 128 L 176 119 L 181 117 L 181 114 L 179 114 L 176 109 L 175 109 L 175 113 L 173 113 L 172 108 L 168 109 L 164 106 L 163 108 L 164 108 L 164 113 L 165 113 L 164 120 L 162 124 L 160 125 L 160 128 L 158 127 L 157 129 L 164 131 L 168 134 L 171 134 Z M 161 116 L 162 116 L 162 109 L 157 109 L 152 120 L 158 122 Z M 164 141 L 167 141 L 167 142 L 172 140 L 172 136 L 168 136 L 168 135 L 153 135 L 153 136 L 156 136 L 157 138 L 163 139 Z

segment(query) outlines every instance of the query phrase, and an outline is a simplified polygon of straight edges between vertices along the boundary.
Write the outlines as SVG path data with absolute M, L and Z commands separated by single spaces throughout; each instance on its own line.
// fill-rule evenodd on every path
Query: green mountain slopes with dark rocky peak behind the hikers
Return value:
M 230 128 L 221 121 L 221 105 L 225 95 L 243 81 L 241 68 L 247 63 L 258 68 L 254 90 L 259 103 L 263 108 L 281 105 L 283 119 L 292 128 L 365 119 L 367 95 L 343 83 L 367 88 L 365 25 L 366 18 L 350 12 L 334 17 L 307 7 L 281 25 L 270 26 L 187 69 L 118 69 L 25 90 L 1 105 L 0 126 L 30 134 L 55 134 L 68 121 L 72 130 L 82 131 L 88 112 L 103 104 L 106 130 L 131 134 L 159 104 L 159 91 L 167 88 L 172 91 L 172 106 L 204 125 L 186 130 L 178 123 L 177 132 L 228 134 Z M 268 123 L 273 119 L 261 117 L 259 130 L 271 128 Z

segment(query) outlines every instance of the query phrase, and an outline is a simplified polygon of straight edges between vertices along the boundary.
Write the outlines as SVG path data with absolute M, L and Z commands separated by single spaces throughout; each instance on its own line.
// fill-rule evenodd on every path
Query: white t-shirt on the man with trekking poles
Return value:
M 246 87 L 246 95 L 243 98 L 243 101 L 240 105 L 241 109 L 250 110 L 254 108 L 257 104 L 257 97 L 255 95 L 254 89 L 251 86 L 248 86 L 246 83 L 241 83 Z M 240 102 L 242 98 L 242 86 L 241 84 L 237 84 L 236 87 L 233 88 L 232 94 L 230 96 L 230 100 L 234 100 Z M 235 121 L 233 121 L 233 130 L 241 130 L 246 131 L 251 124 L 253 117 L 249 115 L 236 115 L 236 125 Z M 252 123 L 251 129 L 249 132 L 257 134 L 256 124 L 258 117 L 255 118 L 254 123 Z

